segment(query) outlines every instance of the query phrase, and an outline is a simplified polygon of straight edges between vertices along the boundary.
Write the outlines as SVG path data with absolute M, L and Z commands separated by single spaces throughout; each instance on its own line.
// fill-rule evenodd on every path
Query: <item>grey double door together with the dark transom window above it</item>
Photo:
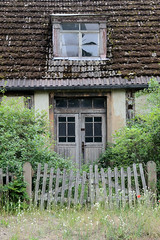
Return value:
M 105 98 L 55 99 L 56 152 L 81 167 L 93 163 L 106 145 Z

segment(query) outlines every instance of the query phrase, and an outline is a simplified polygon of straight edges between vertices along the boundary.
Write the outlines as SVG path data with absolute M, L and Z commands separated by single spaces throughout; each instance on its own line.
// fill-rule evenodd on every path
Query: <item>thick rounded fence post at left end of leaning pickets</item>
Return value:
M 32 199 L 32 175 L 33 175 L 33 169 L 29 162 L 26 162 L 23 165 L 23 176 L 24 181 L 27 183 L 27 193 L 30 198 Z

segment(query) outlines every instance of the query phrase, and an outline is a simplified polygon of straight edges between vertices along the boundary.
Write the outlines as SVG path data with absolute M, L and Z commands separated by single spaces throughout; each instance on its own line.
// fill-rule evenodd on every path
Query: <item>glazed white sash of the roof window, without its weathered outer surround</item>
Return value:
M 98 23 L 62 23 L 62 57 L 99 57 Z

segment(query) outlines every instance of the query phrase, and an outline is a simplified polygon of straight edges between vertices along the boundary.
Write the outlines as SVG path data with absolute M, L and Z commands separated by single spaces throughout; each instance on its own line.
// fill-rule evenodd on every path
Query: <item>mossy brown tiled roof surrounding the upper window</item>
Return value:
M 107 16 L 107 60 L 51 60 L 53 13 Z M 0 1 L 0 79 L 47 86 L 160 76 L 160 2 L 151 0 Z M 90 79 L 90 80 L 89 80 Z M 33 81 L 33 84 L 31 84 Z M 50 83 L 49 83 L 50 81 Z M 107 81 L 107 80 L 105 80 Z M 2 81 L 1 81 L 2 82 Z M 10 83 L 9 83 L 10 84 Z M 42 84 L 41 84 L 42 85 Z M 38 85 L 37 85 L 38 87 Z

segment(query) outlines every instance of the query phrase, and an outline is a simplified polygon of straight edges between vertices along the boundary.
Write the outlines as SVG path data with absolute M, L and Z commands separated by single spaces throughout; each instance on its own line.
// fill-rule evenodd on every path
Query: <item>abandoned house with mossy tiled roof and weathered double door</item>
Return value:
M 55 150 L 77 165 L 113 141 L 151 77 L 160 80 L 159 1 L 0 1 L 0 87 L 47 112 Z

